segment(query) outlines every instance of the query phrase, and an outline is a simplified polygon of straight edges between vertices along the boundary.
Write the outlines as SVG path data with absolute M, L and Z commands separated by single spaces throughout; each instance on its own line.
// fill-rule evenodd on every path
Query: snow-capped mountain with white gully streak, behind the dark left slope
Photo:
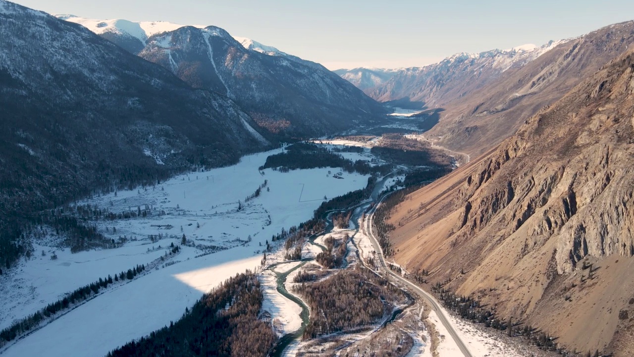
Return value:
M 314 62 L 219 27 L 58 18 L 85 26 L 194 88 L 230 97 L 275 135 L 334 133 L 381 119 L 384 107 Z

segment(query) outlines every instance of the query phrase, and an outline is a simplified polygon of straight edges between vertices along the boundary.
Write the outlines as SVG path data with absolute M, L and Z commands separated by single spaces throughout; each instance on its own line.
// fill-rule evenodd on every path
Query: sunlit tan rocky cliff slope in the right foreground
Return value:
M 631 356 L 633 158 L 630 52 L 408 196 L 392 213 L 395 258 L 565 346 Z

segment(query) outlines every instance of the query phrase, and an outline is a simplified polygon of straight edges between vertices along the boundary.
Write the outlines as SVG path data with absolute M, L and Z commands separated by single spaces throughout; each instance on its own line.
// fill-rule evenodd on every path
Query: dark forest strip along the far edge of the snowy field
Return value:
M 270 155 L 266 158 L 264 165 L 259 167 L 259 170 L 273 168 L 273 170 L 280 172 L 289 172 L 290 170 L 326 167 L 341 168 L 345 172 L 358 172 L 361 175 L 387 173 L 391 170 L 386 165 L 372 166 L 365 160 L 346 159 L 340 154 L 330 151 L 327 147 L 308 142 L 288 145 L 285 151 Z

